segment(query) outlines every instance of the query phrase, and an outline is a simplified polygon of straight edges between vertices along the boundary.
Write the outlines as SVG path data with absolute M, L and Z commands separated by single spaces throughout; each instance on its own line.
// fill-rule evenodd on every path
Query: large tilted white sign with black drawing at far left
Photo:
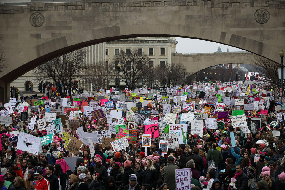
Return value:
M 40 144 L 41 144 L 40 137 L 20 132 L 18 136 L 17 149 L 38 155 Z

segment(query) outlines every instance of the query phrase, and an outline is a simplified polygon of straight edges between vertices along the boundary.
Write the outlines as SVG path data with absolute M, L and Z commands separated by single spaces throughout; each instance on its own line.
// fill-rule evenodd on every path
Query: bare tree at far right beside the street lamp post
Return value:
M 278 79 L 278 68 L 280 66 L 278 63 L 260 56 L 255 56 L 252 62 L 256 65 L 254 69 L 259 71 L 260 81 L 271 84 L 273 88 L 281 88 L 281 80 Z

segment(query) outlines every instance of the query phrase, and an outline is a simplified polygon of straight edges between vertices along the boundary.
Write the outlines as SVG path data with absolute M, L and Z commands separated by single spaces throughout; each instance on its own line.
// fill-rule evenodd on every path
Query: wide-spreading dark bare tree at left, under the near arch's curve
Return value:
M 83 63 L 85 56 L 86 52 L 82 49 L 66 53 L 38 66 L 35 74 L 53 80 L 59 89 L 59 94 L 65 97 L 67 94 L 65 87 L 69 85 L 71 88 L 72 80 L 79 78 L 80 72 L 86 68 Z

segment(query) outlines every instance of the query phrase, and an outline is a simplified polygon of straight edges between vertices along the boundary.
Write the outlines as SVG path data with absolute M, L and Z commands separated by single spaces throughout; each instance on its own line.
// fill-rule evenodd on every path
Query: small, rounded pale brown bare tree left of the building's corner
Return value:
M 109 67 L 109 65 L 106 65 L 106 61 L 95 62 L 91 66 L 86 67 L 86 75 L 83 78 L 93 83 L 93 89 L 105 89 L 110 81 L 115 80 L 116 76 L 114 75 L 113 68 Z

